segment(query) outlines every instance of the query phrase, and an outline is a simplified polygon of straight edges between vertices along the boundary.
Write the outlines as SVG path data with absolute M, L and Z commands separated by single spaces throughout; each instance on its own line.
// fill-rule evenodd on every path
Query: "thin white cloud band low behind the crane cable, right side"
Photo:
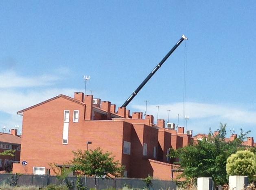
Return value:
M 152 114 L 156 117 L 156 106 L 157 105 L 149 105 L 147 107 L 147 114 Z M 145 105 L 133 105 L 133 108 L 143 112 L 145 111 Z M 170 119 L 176 120 L 178 114 L 180 115 L 180 118 L 183 118 L 183 103 L 177 102 L 173 104 L 160 105 L 159 118 L 168 118 L 168 109 L 171 109 Z M 256 111 L 249 111 L 243 108 L 223 105 L 187 102 L 185 115 L 189 115 L 190 119 L 194 120 L 214 117 L 218 118 L 218 120 L 230 121 L 236 124 L 256 124 Z

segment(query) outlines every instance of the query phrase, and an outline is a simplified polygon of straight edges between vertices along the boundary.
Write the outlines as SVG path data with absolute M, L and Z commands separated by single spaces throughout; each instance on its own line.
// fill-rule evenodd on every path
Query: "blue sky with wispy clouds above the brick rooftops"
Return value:
M 188 37 L 128 105 L 194 134 L 219 123 L 256 137 L 255 1 L 1 1 L 0 130 L 17 111 L 83 91 L 121 106 L 182 34 Z M 43 126 L 42 126 L 43 127 Z M 19 129 L 20 130 L 20 129 Z

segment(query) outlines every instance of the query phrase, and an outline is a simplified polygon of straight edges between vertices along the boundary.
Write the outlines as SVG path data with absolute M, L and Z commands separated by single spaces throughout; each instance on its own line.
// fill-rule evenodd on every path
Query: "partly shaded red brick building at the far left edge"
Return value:
M 11 162 L 20 161 L 21 136 L 17 132 L 17 129 L 11 129 L 11 134 L 0 132 L 0 152 L 16 150 L 14 156 L 0 156 L 0 170 L 4 170 L 4 166 Z

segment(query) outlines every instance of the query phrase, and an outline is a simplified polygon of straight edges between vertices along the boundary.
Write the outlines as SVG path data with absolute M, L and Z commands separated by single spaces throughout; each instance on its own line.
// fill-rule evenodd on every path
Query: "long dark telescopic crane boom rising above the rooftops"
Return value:
M 182 38 L 179 39 L 179 41 L 173 46 L 173 48 L 166 54 L 166 56 L 160 61 L 157 66 L 149 73 L 146 79 L 138 86 L 138 88 L 129 96 L 129 98 L 123 103 L 122 107 L 126 107 L 131 100 L 140 92 L 140 90 L 143 88 L 143 86 L 149 81 L 149 79 L 155 74 L 155 72 L 164 64 L 164 62 L 168 59 L 169 56 L 175 51 L 175 49 L 182 43 L 182 41 L 187 40 L 188 38 L 184 35 L 182 35 Z

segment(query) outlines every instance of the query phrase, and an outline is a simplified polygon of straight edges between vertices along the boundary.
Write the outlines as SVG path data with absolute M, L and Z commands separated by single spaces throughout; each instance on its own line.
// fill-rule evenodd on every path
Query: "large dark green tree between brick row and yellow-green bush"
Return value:
M 226 124 L 220 124 L 219 134 L 214 137 L 209 132 L 208 138 L 198 141 L 197 145 L 189 145 L 177 150 L 171 150 L 172 158 L 179 158 L 179 166 L 184 170 L 182 177 L 212 177 L 216 185 L 228 182 L 226 172 L 227 159 L 238 148 L 243 149 L 242 141 L 245 134 L 241 134 L 231 142 L 225 142 Z M 248 133 L 248 132 L 247 132 Z

